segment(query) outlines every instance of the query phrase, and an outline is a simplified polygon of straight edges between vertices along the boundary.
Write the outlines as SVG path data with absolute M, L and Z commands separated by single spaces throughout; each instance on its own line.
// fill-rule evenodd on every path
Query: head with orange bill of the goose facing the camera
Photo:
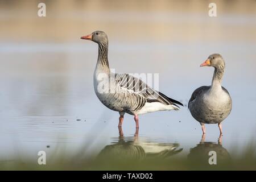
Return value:
M 213 53 L 208 57 L 204 63 L 200 65 L 200 67 L 214 67 L 214 68 L 225 68 L 225 62 L 222 58 L 222 56 L 218 53 Z

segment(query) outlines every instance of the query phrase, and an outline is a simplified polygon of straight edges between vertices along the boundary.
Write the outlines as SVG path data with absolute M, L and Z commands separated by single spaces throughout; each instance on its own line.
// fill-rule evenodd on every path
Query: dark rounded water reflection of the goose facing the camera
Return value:
M 188 160 L 194 164 L 207 164 L 209 166 L 210 151 L 216 152 L 217 164 L 224 164 L 229 162 L 230 155 L 226 148 L 222 147 L 222 135 L 216 142 L 205 142 L 205 134 L 203 134 L 201 141 L 196 147 L 191 148 L 188 154 Z

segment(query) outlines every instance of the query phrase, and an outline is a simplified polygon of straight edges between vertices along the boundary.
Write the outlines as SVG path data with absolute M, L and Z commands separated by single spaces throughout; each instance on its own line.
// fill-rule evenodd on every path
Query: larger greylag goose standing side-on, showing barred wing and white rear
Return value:
M 179 101 L 157 92 L 139 78 L 125 73 L 111 73 L 108 61 L 108 36 L 103 31 L 94 31 L 81 39 L 98 44 L 98 61 L 94 70 L 94 91 L 98 99 L 109 109 L 119 112 L 119 127 L 125 113 L 134 115 L 139 127 L 139 114 L 160 110 L 179 110 Z

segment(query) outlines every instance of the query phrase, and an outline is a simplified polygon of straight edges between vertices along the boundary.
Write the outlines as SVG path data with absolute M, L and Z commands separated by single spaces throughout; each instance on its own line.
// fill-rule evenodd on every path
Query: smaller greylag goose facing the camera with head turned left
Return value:
M 228 90 L 221 86 L 225 70 L 225 61 L 218 53 L 214 53 L 200 67 L 214 67 L 212 85 L 197 88 L 188 102 L 193 118 L 200 122 L 203 133 L 204 124 L 218 123 L 222 134 L 221 122 L 228 117 L 232 109 L 232 100 Z

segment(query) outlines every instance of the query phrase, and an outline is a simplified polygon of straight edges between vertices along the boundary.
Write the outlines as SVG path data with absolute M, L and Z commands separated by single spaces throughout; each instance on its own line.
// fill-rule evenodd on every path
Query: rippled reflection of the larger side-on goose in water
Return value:
M 112 138 L 113 144 L 105 146 L 98 158 L 114 159 L 145 159 L 168 158 L 183 150 L 178 149 L 179 143 L 161 143 L 138 137 L 139 129 L 136 129 L 134 137 L 123 137 L 122 127 L 119 127 L 119 137 Z

